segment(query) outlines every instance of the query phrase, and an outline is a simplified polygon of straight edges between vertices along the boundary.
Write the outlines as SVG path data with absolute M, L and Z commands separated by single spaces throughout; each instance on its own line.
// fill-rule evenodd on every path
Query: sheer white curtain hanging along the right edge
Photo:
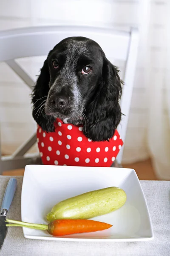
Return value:
M 148 106 L 146 145 L 157 176 L 170 180 L 170 2 L 166 2 L 163 15 L 154 8 L 152 1 L 141 2 L 141 47 Z M 159 23 L 159 19 L 165 21 L 164 26 L 153 25 L 153 20 Z M 153 26 L 159 27 L 156 35 Z

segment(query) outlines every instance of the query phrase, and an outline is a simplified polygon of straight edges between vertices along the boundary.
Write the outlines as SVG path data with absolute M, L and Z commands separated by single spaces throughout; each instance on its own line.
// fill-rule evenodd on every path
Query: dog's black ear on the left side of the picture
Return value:
M 43 131 L 54 131 L 55 118 L 45 114 L 45 101 L 48 96 L 50 74 L 47 60 L 41 69 L 40 76 L 37 79 L 34 90 L 32 92 L 33 111 L 32 115 Z

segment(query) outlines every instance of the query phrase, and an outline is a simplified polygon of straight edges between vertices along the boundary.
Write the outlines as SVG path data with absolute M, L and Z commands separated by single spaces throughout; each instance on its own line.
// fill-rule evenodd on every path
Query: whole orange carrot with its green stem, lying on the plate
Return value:
M 7 227 L 28 227 L 38 230 L 47 230 L 52 236 L 65 236 L 75 233 L 87 233 L 87 232 L 95 232 L 99 230 L 105 230 L 112 225 L 100 222 L 100 221 L 92 221 L 85 219 L 62 219 L 52 221 L 48 225 L 44 224 L 33 224 L 23 221 L 13 221 L 6 219 L 6 222 L 12 224 L 6 224 Z

